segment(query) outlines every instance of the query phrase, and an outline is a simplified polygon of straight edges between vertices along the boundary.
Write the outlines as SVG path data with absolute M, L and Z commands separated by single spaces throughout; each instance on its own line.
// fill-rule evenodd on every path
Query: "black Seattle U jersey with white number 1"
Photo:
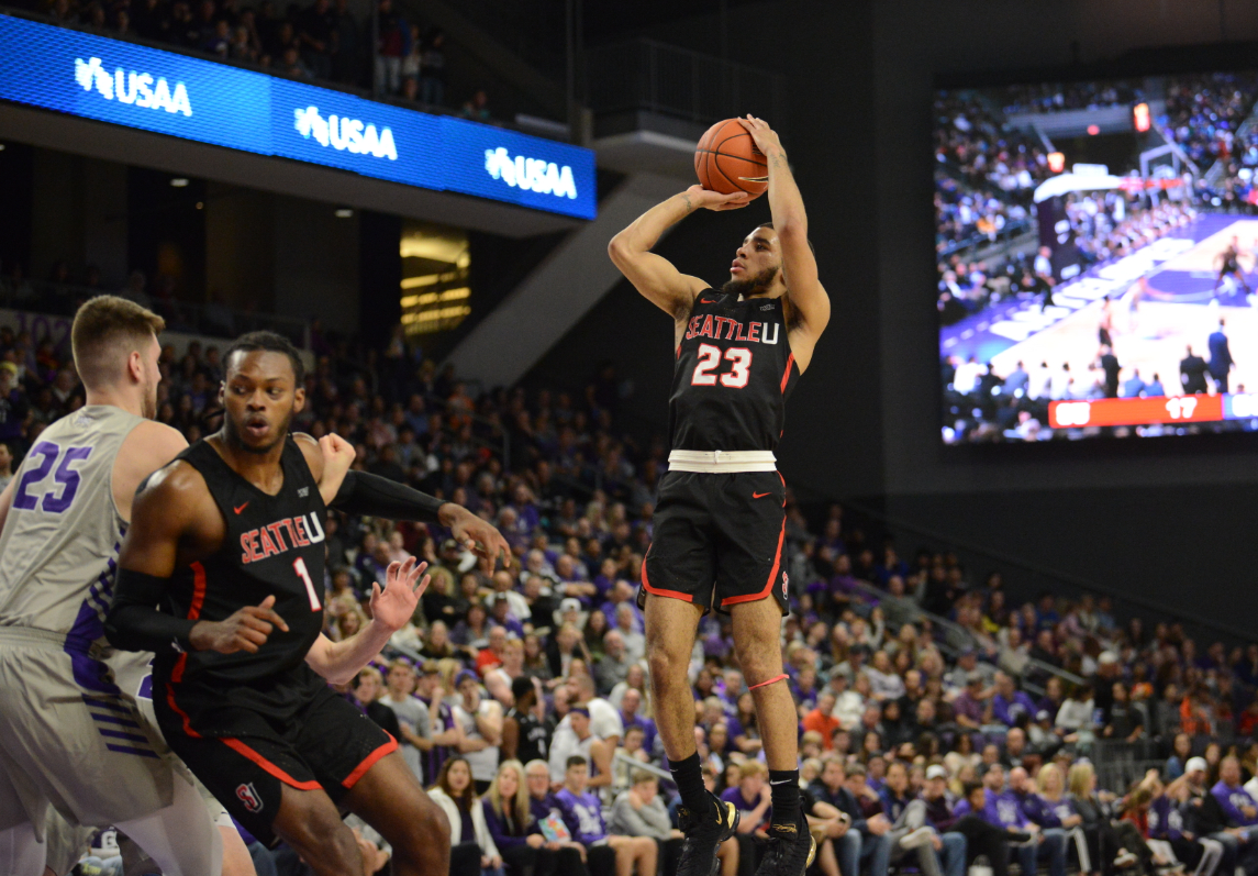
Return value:
M 233 471 L 204 439 L 179 458 L 205 478 L 223 514 L 225 532 L 218 551 L 176 573 L 164 609 L 177 617 L 224 620 L 274 595 L 273 608 L 288 624 L 288 632 L 273 629 L 253 654 L 159 654 L 155 678 L 162 687 L 171 682 L 171 696 L 177 697 L 180 711 L 192 711 L 204 697 L 223 697 L 267 715 L 289 714 L 326 683 L 306 665 L 306 654 L 323 627 L 327 508 L 318 485 L 292 437 L 284 441 L 284 483 L 274 496 Z M 194 715 L 192 724 L 204 721 Z M 205 733 L 204 726 L 198 730 Z

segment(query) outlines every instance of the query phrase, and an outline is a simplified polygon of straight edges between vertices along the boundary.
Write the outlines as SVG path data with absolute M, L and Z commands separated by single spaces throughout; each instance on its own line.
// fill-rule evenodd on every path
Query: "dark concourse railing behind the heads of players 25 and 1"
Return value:
M 221 305 L 194 305 L 174 298 L 152 298 L 147 295 L 131 295 L 126 289 L 103 289 L 50 281 L 0 279 L 0 307 L 67 318 L 74 316 L 78 302 L 106 293 L 121 295 L 148 307 L 166 320 L 169 331 L 228 339 L 249 331 L 269 330 L 283 335 L 302 349 L 309 347 L 309 327 L 306 320 L 292 316 L 238 311 Z

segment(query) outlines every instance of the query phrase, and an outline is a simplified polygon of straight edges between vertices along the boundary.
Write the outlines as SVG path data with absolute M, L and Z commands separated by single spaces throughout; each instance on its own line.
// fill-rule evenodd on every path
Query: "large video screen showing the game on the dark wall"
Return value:
M 1258 430 L 1258 73 L 938 91 L 949 444 Z

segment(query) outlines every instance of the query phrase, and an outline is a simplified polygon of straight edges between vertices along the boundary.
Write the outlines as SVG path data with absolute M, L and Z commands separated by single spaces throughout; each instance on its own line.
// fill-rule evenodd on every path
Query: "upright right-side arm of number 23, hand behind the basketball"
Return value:
M 808 243 L 808 214 L 804 198 L 790 172 L 786 151 L 777 133 L 760 118 L 738 120 L 769 161 L 769 211 L 782 253 L 782 278 L 790 289 L 790 303 L 801 317 L 801 328 L 814 341 L 830 321 L 830 296 L 816 276 L 816 257 Z

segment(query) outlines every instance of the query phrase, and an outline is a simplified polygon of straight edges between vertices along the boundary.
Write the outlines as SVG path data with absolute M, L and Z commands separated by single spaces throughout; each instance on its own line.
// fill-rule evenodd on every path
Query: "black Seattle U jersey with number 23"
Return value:
M 772 451 L 799 379 L 781 298 L 707 289 L 677 347 L 668 432 L 674 451 Z

